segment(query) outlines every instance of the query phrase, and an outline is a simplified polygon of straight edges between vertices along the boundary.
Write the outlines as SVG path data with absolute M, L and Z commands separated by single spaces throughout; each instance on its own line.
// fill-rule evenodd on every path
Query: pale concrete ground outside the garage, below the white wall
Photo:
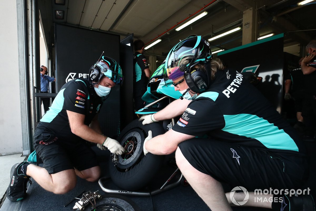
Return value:
M 14 164 L 25 159 L 22 154 L 0 156 L 0 204 L 10 183 L 10 171 Z

